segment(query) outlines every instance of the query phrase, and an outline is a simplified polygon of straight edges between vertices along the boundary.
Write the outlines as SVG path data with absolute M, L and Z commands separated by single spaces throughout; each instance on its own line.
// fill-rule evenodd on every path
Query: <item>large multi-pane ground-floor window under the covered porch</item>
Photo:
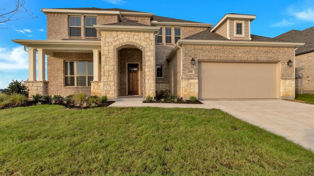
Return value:
M 65 86 L 90 86 L 93 77 L 93 62 L 65 61 Z

